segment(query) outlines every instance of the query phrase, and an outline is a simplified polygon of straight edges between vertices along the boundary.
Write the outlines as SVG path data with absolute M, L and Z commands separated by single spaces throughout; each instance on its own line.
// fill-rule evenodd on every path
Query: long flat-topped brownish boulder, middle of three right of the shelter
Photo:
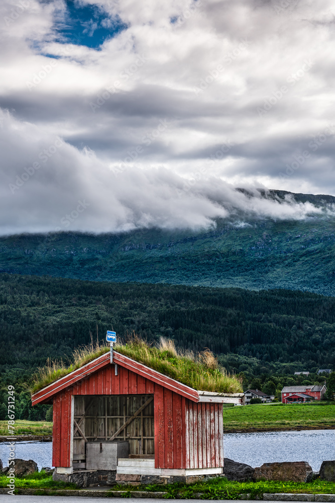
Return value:
M 283 480 L 292 482 L 309 482 L 313 477 L 313 470 L 306 461 L 284 463 L 264 463 L 255 468 L 255 480 Z

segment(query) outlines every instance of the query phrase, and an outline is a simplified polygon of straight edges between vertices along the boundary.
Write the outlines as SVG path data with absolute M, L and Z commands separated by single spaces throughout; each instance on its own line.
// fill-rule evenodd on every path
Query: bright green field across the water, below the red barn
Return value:
M 334 428 L 335 403 L 319 402 L 311 404 L 284 405 L 262 404 L 245 407 L 224 408 L 224 429 L 244 430 L 282 430 L 296 428 Z

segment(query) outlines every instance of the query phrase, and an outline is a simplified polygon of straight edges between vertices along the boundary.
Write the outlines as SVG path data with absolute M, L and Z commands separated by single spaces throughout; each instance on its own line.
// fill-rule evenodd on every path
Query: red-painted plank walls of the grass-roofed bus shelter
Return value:
M 71 395 L 154 394 L 155 467 L 223 466 L 222 404 L 196 403 L 135 372 L 100 369 L 54 397 L 53 466 L 69 467 Z

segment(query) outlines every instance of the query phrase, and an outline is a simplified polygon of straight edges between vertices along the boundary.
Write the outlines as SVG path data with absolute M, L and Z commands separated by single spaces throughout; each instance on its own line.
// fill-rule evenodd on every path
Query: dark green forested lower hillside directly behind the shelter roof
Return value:
M 0 275 L 0 371 L 32 369 L 86 344 L 135 330 L 210 348 L 304 367 L 335 363 L 335 299 L 299 291 L 103 283 Z M 242 362 L 244 363 L 244 362 Z M 236 369 L 239 370 L 239 369 Z

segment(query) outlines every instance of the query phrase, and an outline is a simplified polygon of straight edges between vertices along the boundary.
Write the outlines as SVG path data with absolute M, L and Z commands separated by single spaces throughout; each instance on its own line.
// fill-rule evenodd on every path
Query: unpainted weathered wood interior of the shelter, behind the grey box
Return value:
M 154 458 L 154 395 L 74 396 L 73 469 L 85 469 L 86 445 L 129 442 L 129 457 Z

